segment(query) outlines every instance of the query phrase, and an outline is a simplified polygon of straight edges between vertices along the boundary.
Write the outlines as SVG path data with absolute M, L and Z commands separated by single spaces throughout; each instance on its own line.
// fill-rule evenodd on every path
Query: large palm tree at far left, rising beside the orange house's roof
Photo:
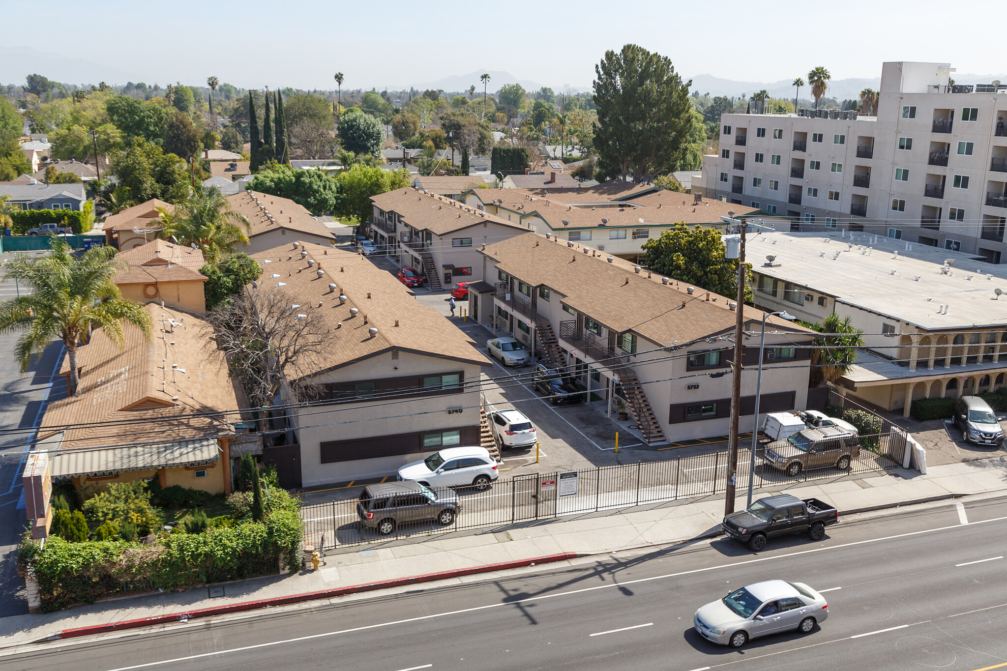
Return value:
M 77 392 L 77 349 L 97 324 L 120 347 L 123 322 L 150 338 L 150 315 L 142 303 L 127 301 L 113 280 L 122 267 L 111 246 L 94 246 L 78 257 L 53 239 L 47 257 L 18 257 L 7 263 L 7 277 L 31 287 L 30 294 L 0 302 L 0 333 L 21 332 L 14 355 L 26 372 L 53 340 L 62 340 L 69 357 L 70 394 Z

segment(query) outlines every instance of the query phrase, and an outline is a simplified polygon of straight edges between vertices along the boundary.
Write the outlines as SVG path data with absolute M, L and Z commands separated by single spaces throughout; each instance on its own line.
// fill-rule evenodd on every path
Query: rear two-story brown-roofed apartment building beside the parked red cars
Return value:
M 528 230 L 447 196 L 415 188 L 382 193 L 371 201 L 371 227 L 380 248 L 387 249 L 399 266 L 421 271 L 434 291 L 454 282 L 480 280 L 482 265 L 476 248 Z

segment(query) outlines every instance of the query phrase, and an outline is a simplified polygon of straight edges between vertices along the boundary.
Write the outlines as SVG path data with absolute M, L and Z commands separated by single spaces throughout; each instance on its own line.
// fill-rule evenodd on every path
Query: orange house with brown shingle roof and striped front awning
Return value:
M 232 491 L 230 442 L 239 391 L 209 325 L 148 304 L 152 335 L 123 325 L 122 344 L 96 329 L 78 348 L 77 393 L 50 401 L 36 450 L 53 480 L 78 490 L 158 478 L 210 493 Z M 69 377 L 69 358 L 60 375 Z M 243 397 L 243 396 L 241 396 Z

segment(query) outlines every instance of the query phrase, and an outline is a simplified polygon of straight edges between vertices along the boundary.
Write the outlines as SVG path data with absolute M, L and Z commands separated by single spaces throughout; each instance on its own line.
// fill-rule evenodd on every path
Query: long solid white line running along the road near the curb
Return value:
M 978 522 L 974 522 L 972 524 L 972 526 L 975 526 L 977 524 L 985 524 L 987 522 L 1002 522 L 1003 520 L 1007 520 L 1007 517 L 995 517 L 995 518 L 992 518 L 992 519 L 980 520 Z M 863 544 L 866 544 L 866 543 L 875 543 L 875 542 L 882 541 L 882 540 L 892 540 L 892 539 L 895 539 L 895 538 L 904 538 L 906 536 L 916 536 L 916 535 L 919 535 L 919 534 L 922 534 L 922 533 L 932 533 L 934 531 L 947 531 L 948 529 L 957 529 L 958 526 L 959 525 L 956 524 L 954 526 L 942 526 L 942 527 L 937 527 L 937 528 L 933 528 L 933 529 L 923 529 L 923 530 L 920 530 L 920 531 L 907 531 L 906 533 L 898 533 L 898 534 L 895 534 L 895 535 L 892 535 L 892 536 L 883 536 L 881 538 L 868 538 L 867 540 L 855 540 L 855 541 L 852 541 L 852 542 L 849 542 L 849 543 L 841 543 L 839 545 L 830 545 L 830 546 L 826 546 L 826 547 L 815 547 L 815 548 L 812 548 L 810 550 L 800 550 L 798 552 L 789 552 L 787 554 L 777 554 L 777 555 L 774 555 L 774 556 L 757 557 L 755 559 L 745 559 L 744 561 L 734 561 L 732 563 L 719 564 L 719 565 L 716 565 L 716 566 L 705 566 L 703 568 L 693 568 L 691 570 L 684 570 L 684 571 L 680 571 L 678 573 L 666 573 L 664 575 L 654 575 L 652 577 L 639 577 L 639 578 L 636 578 L 634 580 L 625 580 L 625 581 L 618 582 L 618 583 L 614 583 L 613 582 L 613 583 L 608 583 L 608 584 L 597 584 L 597 585 L 595 585 L 593 588 L 583 588 L 581 590 L 571 590 L 569 592 L 558 592 L 558 593 L 552 594 L 552 595 L 541 595 L 541 596 L 538 596 L 538 597 L 528 597 L 526 599 L 517 599 L 517 600 L 511 601 L 511 602 L 500 602 L 500 603 L 496 603 L 496 604 L 487 604 L 485 606 L 475 606 L 473 608 L 462 609 L 460 611 L 448 611 L 448 612 L 445 612 L 445 613 L 435 613 L 433 615 L 418 616 L 416 618 L 409 618 L 407 620 L 396 620 L 396 621 L 393 621 L 393 622 L 383 622 L 383 623 L 380 623 L 380 624 L 377 624 L 377 625 L 367 625 L 365 627 L 355 627 L 353 629 L 343 629 L 343 630 L 339 630 L 339 631 L 336 631 L 336 632 L 325 632 L 325 633 L 322 633 L 322 634 L 312 634 L 310 636 L 302 636 L 302 637 L 295 638 L 295 639 L 286 639 L 286 640 L 283 640 L 283 641 L 271 641 L 269 643 L 259 643 L 259 644 L 253 645 L 253 646 L 245 646 L 243 648 L 230 648 L 230 649 L 227 649 L 227 650 L 219 650 L 219 651 L 215 651 L 215 652 L 207 652 L 207 653 L 202 653 L 202 654 L 199 654 L 199 655 L 190 655 L 188 657 L 177 657 L 175 659 L 166 659 L 166 660 L 161 660 L 159 662 L 148 662 L 146 664 L 137 664 L 137 665 L 134 665 L 134 666 L 124 666 L 124 667 L 121 667 L 121 668 L 118 668 L 118 669 L 111 669 L 111 671 L 131 671 L 131 669 L 142 669 L 142 668 L 147 668 L 147 667 L 151 667 L 151 666 L 159 666 L 161 664 L 170 664 L 172 662 L 184 662 L 184 661 L 187 661 L 187 660 L 190 660 L 190 659 L 199 659 L 199 658 L 202 658 L 202 657 L 212 657 L 214 655 L 224 655 L 224 654 L 227 654 L 227 653 L 230 653 L 230 652 L 241 652 L 243 650 L 254 650 L 256 648 L 266 648 L 266 647 L 270 647 L 270 646 L 281 645 L 281 644 L 284 644 L 284 643 L 296 643 L 298 641 L 309 641 L 311 639 L 323 638 L 323 637 L 326 637 L 326 636 L 335 636 L 337 634 L 350 634 L 352 632 L 367 631 L 369 629 L 378 629 L 380 627 L 389 627 L 389 626 L 392 626 L 392 625 L 402 625 L 402 624 L 406 624 L 406 623 L 410 623 L 410 622 L 420 622 L 422 620 L 431 620 L 433 618 L 443 618 L 443 617 L 446 617 L 446 616 L 449 616 L 449 615 L 460 615 L 460 614 L 463 614 L 463 613 L 474 613 L 476 611 L 485 611 L 485 610 L 488 610 L 488 609 L 491 609 L 491 608 L 500 608 L 502 606 L 513 606 L 513 605 L 516 605 L 516 604 L 524 604 L 526 602 L 545 601 L 546 599 L 553 599 L 555 597 L 567 597 L 567 596 L 570 596 L 570 595 L 576 595 L 576 594 L 581 594 L 581 593 L 585 593 L 585 592 L 594 592 L 595 590 L 606 590 L 606 589 L 609 589 L 609 588 L 626 586 L 626 585 L 629 585 L 629 584 L 634 584 L 636 582 L 651 582 L 652 580 L 661 580 L 661 579 L 665 579 L 665 578 L 669 578 L 669 577 L 678 577 L 678 576 L 681 576 L 681 575 L 690 575 L 692 573 L 702 573 L 702 572 L 706 572 L 706 571 L 709 571 L 709 570 L 716 570 L 718 568 L 732 568 L 734 566 L 742 566 L 742 565 L 745 565 L 745 564 L 757 563 L 757 562 L 760 562 L 760 561 L 769 561 L 771 559 L 785 559 L 785 558 L 788 558 L 788 557 L 799 556 L 801 554 L 810 554 L 812 552 L 822 552 L 822 551 L 825 551 L 825 550 L 839 549 L 839 548 L 842 548 L 842 547 L 852 547 L 854 545 L 863 545 Z M 929 620 L 927 620 L 926 622 L 929 622 Z M 916 624 L 921 624 L 921 623 L 916 623 Z M 82 642 L 85 641 L 85 639 L 80 639 L 80 640 Z M 845 640 L 845 639 L 837 639 L 837 640 Z M 825 641 L 824 643 L 829 643 L 829 641 Z M 814 647 L 815 645 L 823 645 L 823 644 L 814 644 L 813 646 L 809 646 L 809 647 Z M 776 653 L 770 653 L 770 654 L 776 654 Z M 0 655 L 0 656 L 3 656 L 3 655 Z

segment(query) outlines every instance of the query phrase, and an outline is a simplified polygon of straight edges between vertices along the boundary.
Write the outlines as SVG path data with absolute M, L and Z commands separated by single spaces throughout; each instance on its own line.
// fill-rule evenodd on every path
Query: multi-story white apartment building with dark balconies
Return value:
M 949 63 L 886 62 L 877 116 L 725 114 L 694 192 L 1007 263 L 1007 85 L 954 85 Z M 1003 259 L 1001 257 L 1003 256 Z

